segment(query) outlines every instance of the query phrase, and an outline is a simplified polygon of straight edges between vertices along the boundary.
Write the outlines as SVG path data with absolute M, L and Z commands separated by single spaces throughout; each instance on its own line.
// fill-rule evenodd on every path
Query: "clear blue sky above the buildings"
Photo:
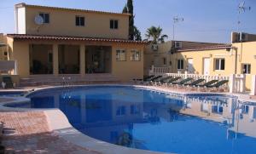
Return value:
M 28 3 L 73 9 L 121 12 L 127 0 L 0 0 L 0 33 L 15 33 L 14 5 Z M 245 13 L 238 15 L 238 5 L 246 2 Z M 160 26 L 171 40 L 173 17 L 184 20 L 175 24 L 175 39 L 209 43 L 230 43 L 231 31 L 256 34 L 256 0 L 134 0 L 135 26 L 145 33 L 150 26 Z

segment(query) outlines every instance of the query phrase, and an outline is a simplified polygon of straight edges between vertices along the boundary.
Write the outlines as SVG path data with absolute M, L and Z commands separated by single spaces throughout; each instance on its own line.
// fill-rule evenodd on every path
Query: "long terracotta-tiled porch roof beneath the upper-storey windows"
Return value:
M 92 41 L 92 42 L 110 42 L 110 43 L 148 43 L 146 41 L 131 41 L 118 38 L 97 38 L 97 37 L 66 37 L 66 36 L 46 36 L 46 35 L 28 35 L 28 34 L 7 34 L 14 40 L 64 40 L 64 41 Z

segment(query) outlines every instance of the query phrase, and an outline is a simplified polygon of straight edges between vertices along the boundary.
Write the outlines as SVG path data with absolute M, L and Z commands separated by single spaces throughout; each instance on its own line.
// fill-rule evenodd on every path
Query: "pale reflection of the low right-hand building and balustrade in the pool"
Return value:
M 180 113 L 228 124 L 229 130 L 235 133 L 256 137 L 256 103 L 243 103 L 228 97 L 224 100 L 185 97 L 184 100 L 186 107 Z

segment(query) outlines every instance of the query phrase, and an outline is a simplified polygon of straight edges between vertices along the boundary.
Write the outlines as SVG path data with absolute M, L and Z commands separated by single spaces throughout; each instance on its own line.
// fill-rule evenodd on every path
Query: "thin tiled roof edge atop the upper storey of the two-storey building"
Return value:
M 131 14 L 122 14 L 122 13 L 114 13 L 114 12 L 96 11 L 96 10 L 89 10 L 89 9 L 69 9 L 69 8 L 49 7 L 49 6 L 41 6 L 41 5 L 30 5 L 26 3 L 15 4 L 15 8 L 21 8 L 21 7 L 31 7 L 31 8 L 39 8 L 39 9 L 59 9 L 59 10 L 79 11 L 79 12 L 97 13 L 97 14 L 118 14 L 118 15 L 128 15 L 128 16 L 131 15 Z

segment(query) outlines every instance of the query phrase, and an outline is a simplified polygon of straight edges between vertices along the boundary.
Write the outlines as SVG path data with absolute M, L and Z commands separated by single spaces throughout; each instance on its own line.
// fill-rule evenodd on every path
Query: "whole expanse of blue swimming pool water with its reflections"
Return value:
M 51 89 L 12 107 L 60 108 L 80 132 L 132 148 L 174 153 L 256 153 L 256 104 L 216 94 L 132 87 Z

